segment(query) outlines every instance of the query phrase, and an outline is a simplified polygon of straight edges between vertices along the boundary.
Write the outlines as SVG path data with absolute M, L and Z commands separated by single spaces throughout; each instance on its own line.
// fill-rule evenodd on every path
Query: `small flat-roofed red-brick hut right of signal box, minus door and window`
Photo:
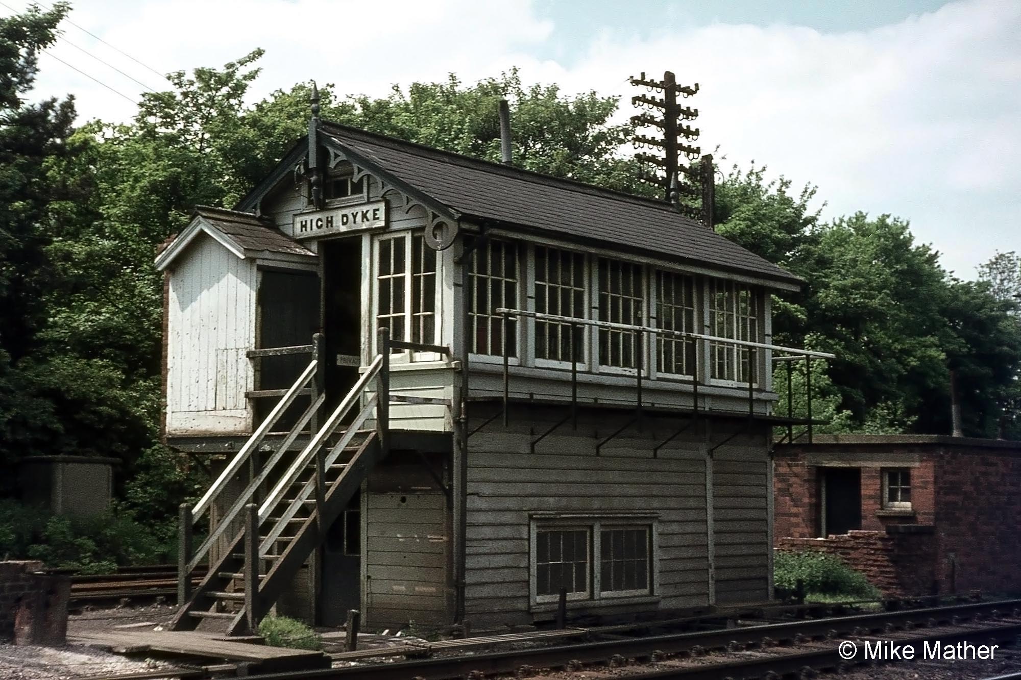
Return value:
M 862 471 L 862 529 L 816 538 L 828 467 Z M 882 507 L 882 469 L 911 470 L 909 514 Z M 888 592 L 1021 592 L 1021 442 L 829 436 L 777 446 L 775 545 L 840 554 Z M 796 540 L 788 540 L 796 539 Z M 814 540 L 804 540 L 814 539 Z M 893 575 L 890 575 L 890 569 Z

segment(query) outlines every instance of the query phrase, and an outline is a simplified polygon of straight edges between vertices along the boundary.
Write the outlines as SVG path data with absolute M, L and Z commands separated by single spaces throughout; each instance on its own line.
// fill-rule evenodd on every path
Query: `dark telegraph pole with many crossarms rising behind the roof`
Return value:
M 666 201 L 672 203 L 680 212 L 712 229 L 713 156 L 702 156 L 698 167 L 680 161 L 682 153 L 689 161 L 695 160 L 701 154 L 701 148 L 692 144 L 698 139 L 698 129 L 682 123 L 698 117 L 698 109 L 677 103 L 678 94 L 684 98 L 695 95 L 698 92 L 698 84 L 695 83 L 690 87 L 678 85 L 676 77 L 669 70 L 663 75 L 662 81 L 648 80 L 644 72 L 639 78 L 632 77 L 630 81 L 631 85 L 663 93 L 662 98 L 647 95 L 635 95 L 631 98 L 632 105 L 651 111 L 633 115 L 631 122 L 639 127 L 662 131 L 662 136 L 658 137 L 635 135 L 635 146 L 658 149 L 663 154 L 661 156 L 636 153 L 635 159 L 638 161 L 649 163 L 663 171 L 661 176 L 655 171 L 649 173 L 643 169 L 639 172 L 638 179 L 662 189 Z M 682 197 L 687 198 L 689 203 L 700 202 L 700 209 L 682 202 Z

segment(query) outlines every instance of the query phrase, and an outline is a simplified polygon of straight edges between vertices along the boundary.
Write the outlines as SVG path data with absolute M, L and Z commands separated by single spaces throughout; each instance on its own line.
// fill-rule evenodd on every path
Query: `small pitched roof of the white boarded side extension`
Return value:
M 156 269 L 166 269 L 192 239 L 203 232 L 242 259 L 262 253 L 315 256 L 315 253 L 276 229 L 272 223 L 250 212 L 197 205 L 188 228 L 156 257 Z

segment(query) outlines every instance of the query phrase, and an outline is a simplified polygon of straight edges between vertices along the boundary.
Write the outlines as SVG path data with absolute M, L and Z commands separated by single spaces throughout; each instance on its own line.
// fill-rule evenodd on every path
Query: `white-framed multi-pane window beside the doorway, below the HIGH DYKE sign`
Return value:
M 396 340 L 434 343 L 436 252 L 421 235 L 380 239 L 378 264 L 378 327 Z

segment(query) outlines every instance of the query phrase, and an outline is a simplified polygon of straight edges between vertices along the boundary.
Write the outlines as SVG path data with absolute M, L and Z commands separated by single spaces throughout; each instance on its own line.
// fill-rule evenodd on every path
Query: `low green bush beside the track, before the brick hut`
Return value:
M 794 590 L 798 579 L 805 581 L 806 593 L 861 598 L 880 596 L 879 590 L 864 574 L 837 556 L 814 550 L 774 551 L 773 584 L 777 588 Z

